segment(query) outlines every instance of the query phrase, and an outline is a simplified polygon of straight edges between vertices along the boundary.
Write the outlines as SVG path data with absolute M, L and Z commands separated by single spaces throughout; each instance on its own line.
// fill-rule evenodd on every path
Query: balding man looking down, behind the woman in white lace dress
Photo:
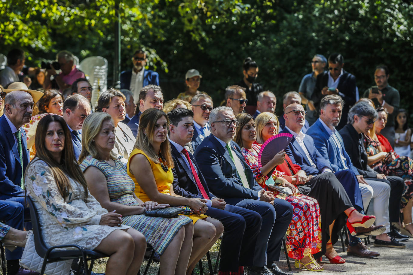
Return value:
M 82 94 L 72 94 L 63 103 L 63 119 L 69 127 L 76 160 L 82 151 L 82 125 L 90 115 L 90 104 Z

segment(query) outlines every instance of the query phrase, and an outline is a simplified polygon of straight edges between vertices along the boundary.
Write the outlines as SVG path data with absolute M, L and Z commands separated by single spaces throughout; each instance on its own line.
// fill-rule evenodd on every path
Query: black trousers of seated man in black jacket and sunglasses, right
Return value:
M 399 176 L 386 176 L 387 179 L 374 179 L 375 181 L 383 181 L 390 186 L 389 198 L 389 218 L 390 223 L 399 222 L 400 201 L 404 190 L 404 180 Z

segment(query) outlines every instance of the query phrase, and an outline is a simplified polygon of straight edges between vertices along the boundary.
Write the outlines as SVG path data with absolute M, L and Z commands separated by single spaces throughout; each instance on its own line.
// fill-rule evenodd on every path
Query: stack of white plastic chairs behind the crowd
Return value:
M 107 90 L 107 59 L 102 56 L 90 56 L 83 59 L 80 68 L 93 87 L 92 106 L 95 106 L 100 93 Z M 100 86 L 100 93 L 98 86 Z

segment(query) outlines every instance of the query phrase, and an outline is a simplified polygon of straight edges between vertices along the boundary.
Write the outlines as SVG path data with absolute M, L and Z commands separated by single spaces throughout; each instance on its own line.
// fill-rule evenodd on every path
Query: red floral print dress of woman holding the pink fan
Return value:
M 265 181 L 266 176 L 261 173 L 261 167 L 258 164 L 258 154 L 261 144 L 252 144 L 252 150 L 242 148 L 242 153 L 249 167 L 254 172 L 257 183 L 268 190 Z M 283 176 L 284 173 L 274 170 L 273 179 Z M 310 254 L 316 254 L 321 251 L 321 219 L 320 207 L 316 199 L 302 195 L 284 195 L 274 192 L 274 196 L 287 200 L 293 206 L 293 216 L 290 226 L 287 229 L 287 251 L 288 256 L 292 259 L 302 259 Z

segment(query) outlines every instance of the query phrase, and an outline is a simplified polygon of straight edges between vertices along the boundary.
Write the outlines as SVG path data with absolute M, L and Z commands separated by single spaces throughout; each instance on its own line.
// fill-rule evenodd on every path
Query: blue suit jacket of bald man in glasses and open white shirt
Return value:
M 290 131 L 284 129 L 281 133 L 288 133 L 291 134 Z M 285 149 L 285 153 L 290 157 L 291 161 L 295 164 L 298 164 L 301 169 L 303 169 L 308 175 L 318 175 L 321 173 L 324 167 L 330 167 L 330 163 L 326 160 L 320 152 L 318 152 L 316 146 L 314 146 L 314 140 L 311 136 L 307 135 L 304 137 L 304 145 L 307 148 L 307 151 L 310 154 L 311 160 L 317 166 L 314 168 L 311 166 L 309 160 L 306 157 L 303 149 L 298 144 L 298 141 L 293 138 L 290 144 L 288 144 L 287 148 Z

